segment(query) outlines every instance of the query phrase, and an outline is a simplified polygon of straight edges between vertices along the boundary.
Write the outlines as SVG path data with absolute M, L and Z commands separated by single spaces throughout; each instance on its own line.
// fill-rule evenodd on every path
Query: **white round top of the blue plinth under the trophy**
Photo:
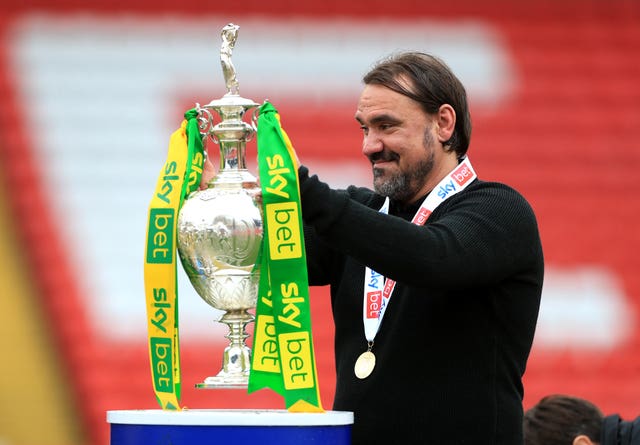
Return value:
M 122 410 L 107 411 L 107 422 L 135 425 L 327 426 L 351 425 L 353 413 L 290 413 L 270 409 Z

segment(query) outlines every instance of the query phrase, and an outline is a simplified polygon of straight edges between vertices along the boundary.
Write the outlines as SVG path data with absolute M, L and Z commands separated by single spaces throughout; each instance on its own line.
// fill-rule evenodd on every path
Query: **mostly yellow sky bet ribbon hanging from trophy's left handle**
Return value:
M 204 152 L 198 113 L 189 110 L 169 141 L 169 152 L 149 205 L 144 258 L 149 361 L 162 409 L 180 410 L 180 345 L 176 223 L 186 195 L 200 185 Z

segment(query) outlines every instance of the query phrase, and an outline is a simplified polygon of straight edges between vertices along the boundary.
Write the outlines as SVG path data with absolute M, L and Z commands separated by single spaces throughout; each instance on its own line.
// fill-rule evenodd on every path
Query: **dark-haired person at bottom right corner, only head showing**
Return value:
M 553 394 L 524 413 L 525 445 L 640 445 L 640 417 L 622 420 L 579 397 Z

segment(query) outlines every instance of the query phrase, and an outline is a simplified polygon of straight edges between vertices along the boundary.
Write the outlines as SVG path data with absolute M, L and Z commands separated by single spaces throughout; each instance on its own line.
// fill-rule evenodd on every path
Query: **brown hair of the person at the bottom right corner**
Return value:
M 571 445 L 585 435 L 600 442 L 604 416 L 593 403 L 565 395 L 544 397 L 524 413 L 525 445 Z

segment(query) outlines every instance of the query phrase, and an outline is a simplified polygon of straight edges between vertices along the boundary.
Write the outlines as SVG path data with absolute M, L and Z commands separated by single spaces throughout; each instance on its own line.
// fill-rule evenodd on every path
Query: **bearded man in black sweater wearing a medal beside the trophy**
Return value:
M 520 444 L 543 279 L 533 211 L 475 177 L 444 63 L 399 54 L 364 84 L 375 191 L 299 170 L 309 284 L 331 286 L 334 409 L 354 412 L 354 444 Z

